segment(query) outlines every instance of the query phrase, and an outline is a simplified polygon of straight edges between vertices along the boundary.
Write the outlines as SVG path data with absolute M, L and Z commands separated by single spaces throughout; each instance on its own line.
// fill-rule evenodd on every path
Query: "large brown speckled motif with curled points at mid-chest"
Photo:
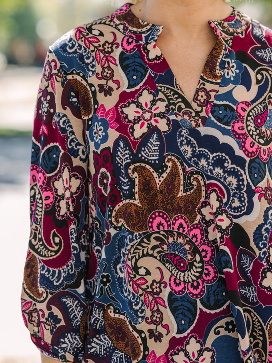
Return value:
M 165 158 L 164 174 L 158 176 L 151 166 L 144 163 L 129 168 L 129 175 L 135 179 L 135 199 L 123 200 L 113 212 L 113 221 L 122 223 L 134 232 L 148 230 L 149 215 L 157 210 L 165 211 L 170 219 L 181 214 L 190 224 L 197 219 L 197 207 L 205 197 L 205 184 L 198 172 L 187 175 L 184 165 L 172 155 Z M 185 185 L 191 185 L 185 191 Z

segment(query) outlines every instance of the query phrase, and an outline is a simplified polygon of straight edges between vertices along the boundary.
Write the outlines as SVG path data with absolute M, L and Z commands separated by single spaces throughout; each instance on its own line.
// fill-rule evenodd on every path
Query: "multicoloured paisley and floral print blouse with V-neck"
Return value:
M 272 32 L 209 24 L 191 104 L 129 4 L 49 49 L 21 300 L 46 355 L 272 362 Z

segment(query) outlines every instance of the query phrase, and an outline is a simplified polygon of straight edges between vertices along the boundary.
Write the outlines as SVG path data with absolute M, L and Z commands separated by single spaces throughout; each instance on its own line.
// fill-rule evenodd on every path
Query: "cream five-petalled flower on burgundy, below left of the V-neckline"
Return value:
M 133 139 L 141 138 L 153 126 L 157 126 L 162 132 L 170 130 L 170 112 L 165 99 L 157 98 L 156 94 L 143 88 L 136 96 L 136 100 L 130 100 L 120 106 L 120 112 L 125 122 L 131 123 L 129 132 Z

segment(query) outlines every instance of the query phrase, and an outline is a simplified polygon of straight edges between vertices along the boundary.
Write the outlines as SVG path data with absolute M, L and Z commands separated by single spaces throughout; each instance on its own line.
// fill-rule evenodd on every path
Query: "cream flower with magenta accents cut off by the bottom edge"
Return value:
M 213 348 L 203 346 L 202 340 L 192 334 L 186 340 L 184 346 L 177 346 L 169 353 L 173 363 L 215 363 L 215 351 Z

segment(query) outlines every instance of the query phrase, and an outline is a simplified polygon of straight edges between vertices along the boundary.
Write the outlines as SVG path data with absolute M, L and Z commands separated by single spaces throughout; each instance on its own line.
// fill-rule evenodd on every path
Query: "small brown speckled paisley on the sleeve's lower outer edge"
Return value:
M 37 300 L 42 300 L 45 298 L 45 290 L 39 286 L 37 276 L 39 276 L 38 259 L 33 253 L 29 252 L 25 262 L 24 286 Z

